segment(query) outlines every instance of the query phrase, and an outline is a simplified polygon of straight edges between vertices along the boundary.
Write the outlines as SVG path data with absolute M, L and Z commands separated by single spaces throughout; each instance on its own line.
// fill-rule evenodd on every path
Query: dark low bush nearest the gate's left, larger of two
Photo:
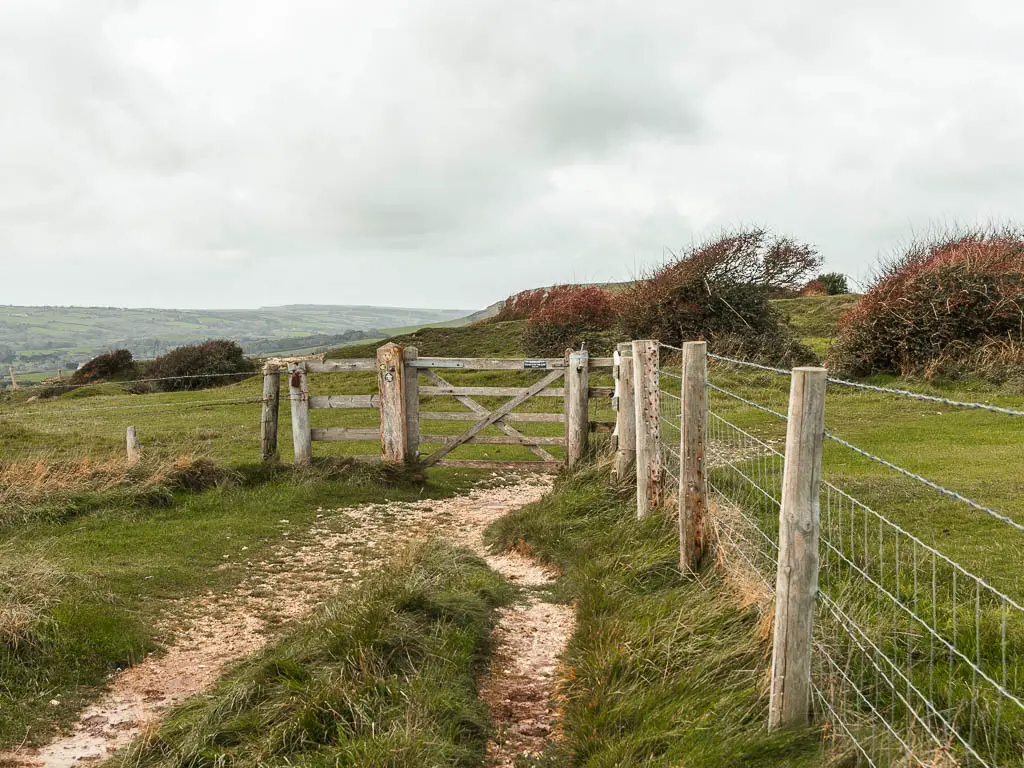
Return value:
M 241 346 L 222 339 L 172 349 L 146 366 L 142 378 L 157 379 L 152 384 L 159 391 L 176 392 L 233 384 L 255 371 Z

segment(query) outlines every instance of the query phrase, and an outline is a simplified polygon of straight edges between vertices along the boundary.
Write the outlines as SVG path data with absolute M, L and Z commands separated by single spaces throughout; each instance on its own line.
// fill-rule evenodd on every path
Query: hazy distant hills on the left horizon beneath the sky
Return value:
M 259 309 L 0 306 L 0 365 L 13 365 L 17 372 L 55 372 L 106 349 L 125 347 L 136 357 L 154 357 L 181 344 L 214 338 L 233 339 L 253 350 L 279 351 L 276 347 L 340 341 L 310 337 L 347 332 L 386 336 L 386 331 L 377 329 L 458 322 L 472 311 L 318 304 Z

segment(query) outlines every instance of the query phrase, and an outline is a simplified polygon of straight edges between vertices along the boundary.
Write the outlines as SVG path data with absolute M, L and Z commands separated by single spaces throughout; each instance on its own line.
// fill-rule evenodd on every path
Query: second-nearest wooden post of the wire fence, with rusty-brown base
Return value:
M 708 441 L 708 344 L 683 344 L 682 425 L 679 437 L 679 567 L 695 572 L 705 551 Z

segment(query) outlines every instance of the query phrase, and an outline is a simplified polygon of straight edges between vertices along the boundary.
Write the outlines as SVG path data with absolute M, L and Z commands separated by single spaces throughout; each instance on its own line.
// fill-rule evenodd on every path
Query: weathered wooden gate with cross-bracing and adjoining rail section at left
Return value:
M 279 362 L 279 365 L 285 361 Z M 610 357 L 591 358 L 586 351 L 566 352 L 564 357 L 420 357 L 415 347 L 386 344 L 377 350 L 377 358 L 287 361 L 292 406 L 292 427 L 296 463 L 308 462 L 312 442 L 318 440 L 367 440 L 379 438 L 380 459 L 385 462 L 421 462 L 424 466 L 471 467 L 482 469 L 527 469 L 558 471 L 572 466 L 586 451 L 588 435 L 595 430 L 610 430 L 605 423 L 590 421 L 591 397 L 610 397 L 610 387 L 589 386 L 591 371 L 612 367 Z M 276 377 L 268 365 L 264 376 Z M 361 395 L 310 396 L 308 373 L 377 373 L 377 392 Z M 536 372 L 538 377 L 526 386 L 467 386 L 454 381 L 452 373 L 463 372 Z M 447 378 L 445 378 L 447 377 Z M 269 402 L 278 390 L 275 382 L 264 387 L 263 457 L 276 457 L 276 402 Z M 452 397 L 465 411 L 429 411 L 421 404 L 436 398 Z M 500 404 L 485 404 L 480 398 L 507 398 Z M 421 403 L 421 398 L 425 403 Z M 561 398 L 561 413 L 551 410 L 520 411 L 534 398 Z M 309 410 L 379 409 L 379 428 L 311 429 Z M 443 434 L 424 424 L 471 422 L 461 432 Z M 513 423 L 557 423 L 563 427 L 557 435 L 531 435 L 516 429 Z M 270 428 L 272 426 L 272 429 Z M 488 428 L 502 434 L 483 434 Z M 268 432 L 272 432 L 272 445 Z M 520 445 L 534 454 L 534 461 L 497 461 L 460 459 L 452 455 L 463 445 Z M 421 445 L 436 445 L 421 456 Z M 564 446 L 565 458 L 551 453 Z M 370 459 L 371 457 L 358 457 Z

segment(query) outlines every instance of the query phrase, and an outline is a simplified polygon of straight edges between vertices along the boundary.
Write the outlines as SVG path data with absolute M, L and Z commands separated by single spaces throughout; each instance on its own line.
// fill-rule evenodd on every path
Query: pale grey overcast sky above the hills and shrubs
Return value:
M 0 0 L 0 303 L 478 307 L 1024 203 L 1011 0 Z

